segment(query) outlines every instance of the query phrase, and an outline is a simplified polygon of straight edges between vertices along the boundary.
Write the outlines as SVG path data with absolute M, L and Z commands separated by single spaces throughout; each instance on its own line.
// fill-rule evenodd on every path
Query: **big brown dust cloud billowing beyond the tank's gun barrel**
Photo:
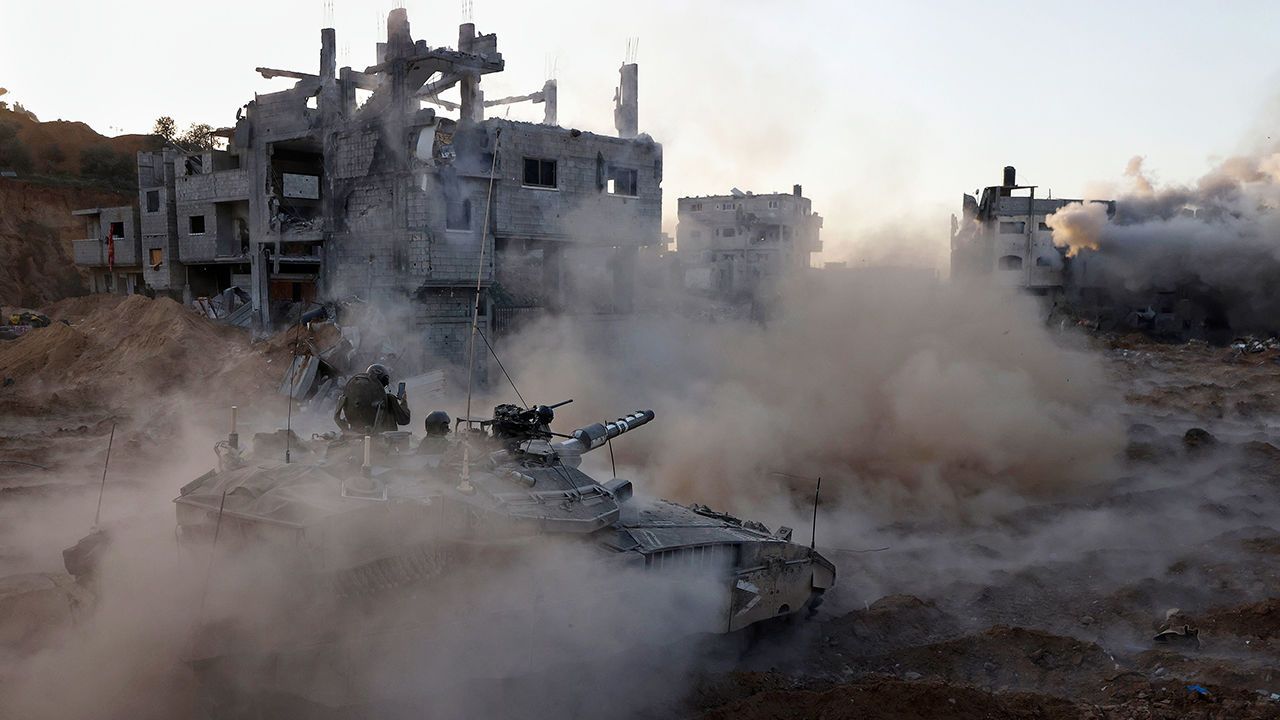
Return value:
M 876 281 L 786 287 L 764 324 L 552 320 L 504 364 L 530 402 L 576 400 L 562 425 L 653 407 L 618 460 L 657 495 L 732 510 L 776 505 L 786 473 L 883 518 L 977 519 L 1111 469 L 1124 438 L 1101 365 L 1038 304 Z

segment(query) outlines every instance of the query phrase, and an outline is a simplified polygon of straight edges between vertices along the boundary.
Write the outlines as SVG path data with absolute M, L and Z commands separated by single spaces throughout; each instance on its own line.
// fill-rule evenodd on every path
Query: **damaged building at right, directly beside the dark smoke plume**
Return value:
M 961 215 L 951 215 L 951 277 L 979 278 L 1028 290 L 1060 292 L 1066 282 L 1065 251 L 1053 245 L 1046 218 L 1083 200 L 1036 197 L 1036 186 L 1018 184 L 1016 170 L 1005 168 L 1004 182 L 987 187 L 980 199 L 964 196 Z M 1098 201 L 1115 214 L 1114 201 Z

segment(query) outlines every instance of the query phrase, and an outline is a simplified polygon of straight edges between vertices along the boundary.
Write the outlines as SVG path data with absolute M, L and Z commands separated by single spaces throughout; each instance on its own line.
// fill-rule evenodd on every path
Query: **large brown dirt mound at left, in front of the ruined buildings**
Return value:
M 169 299 L 100 296 L 78 323 L 54 323 L 0 345 L 0 375 L 26 396 L 69 393 L 77 402 L 216 395 L 227 404 L 270 392 L 278 368 L 244 331 L 219 325 Z M 93 301 L 73 305 L 84 311 Z M 70 305 L 70 304 L 69 304 Z

